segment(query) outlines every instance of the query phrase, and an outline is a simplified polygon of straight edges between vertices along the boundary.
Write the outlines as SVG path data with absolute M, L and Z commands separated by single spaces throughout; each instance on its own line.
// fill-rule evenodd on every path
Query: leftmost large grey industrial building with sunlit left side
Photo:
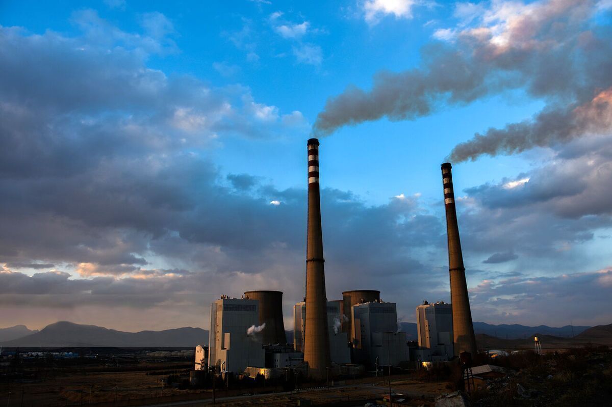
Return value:
M 258 300 L 222 296 L 211 304 L 209 365 L 222 373 L 264 367 L 263 329 Z

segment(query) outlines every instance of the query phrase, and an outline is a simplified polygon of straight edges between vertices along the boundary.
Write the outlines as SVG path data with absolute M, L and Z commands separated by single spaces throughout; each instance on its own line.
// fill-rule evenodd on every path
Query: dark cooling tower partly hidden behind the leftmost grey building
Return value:
M 283 293 L 267 290 L 247 291 L 244 296 L 259 300 L 259 325 L 266 324 L 266 328 L 261 331 L 263 343 L 287 343 L 283 323 Z

